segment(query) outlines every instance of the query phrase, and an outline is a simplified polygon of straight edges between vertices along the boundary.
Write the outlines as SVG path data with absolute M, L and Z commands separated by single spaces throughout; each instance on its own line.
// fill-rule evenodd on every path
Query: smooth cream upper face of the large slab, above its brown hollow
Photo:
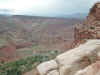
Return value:
M 100 40 L 90 40 L 86 44 L 82 44 L 77 48 L 74 48 L 66 53 L 57 56 L 56 60 L 61 66 L 73 64 L 78 60 L 82 59 L 84 56 L 89 56 L 94 54 L 94 52 L 99 51 L 99 43 Z

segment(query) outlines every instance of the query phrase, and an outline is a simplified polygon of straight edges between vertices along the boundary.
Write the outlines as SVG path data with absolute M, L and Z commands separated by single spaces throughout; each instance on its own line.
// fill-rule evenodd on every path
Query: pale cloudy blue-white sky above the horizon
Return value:
M 87 13 L 99 0 L 0 0 L 1 13 L 56 16 Z

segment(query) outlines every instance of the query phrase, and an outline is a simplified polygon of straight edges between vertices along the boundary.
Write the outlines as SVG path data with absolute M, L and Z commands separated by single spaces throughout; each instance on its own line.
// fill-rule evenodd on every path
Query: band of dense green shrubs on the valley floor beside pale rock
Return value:
M 49 51 L 47 54 L 36 54 L 14 62 L 5 63 L 0 65 L 0 75 L 22 75 L 35 68 L 39 63 L 55 58 L 57 54 L 57 51 Z

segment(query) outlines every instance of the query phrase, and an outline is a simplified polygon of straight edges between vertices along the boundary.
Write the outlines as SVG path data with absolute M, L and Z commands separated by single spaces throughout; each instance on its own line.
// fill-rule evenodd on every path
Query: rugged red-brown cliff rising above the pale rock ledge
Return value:
M 75 41 L 72 48 L 84 43 L 87 39 L 100 39 L 100 2 L 94 4 L 86 19 L 81 24 L 76 24 Z

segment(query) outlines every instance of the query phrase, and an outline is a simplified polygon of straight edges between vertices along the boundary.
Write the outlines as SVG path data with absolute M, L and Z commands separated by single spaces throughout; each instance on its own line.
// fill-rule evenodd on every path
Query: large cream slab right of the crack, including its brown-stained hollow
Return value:
M 99 42 L 91 40 L 78 48 L 57 56 L 56 60 L 59 62 L 60 75 L 73 75 L 76 71 L 95 62 L 96 53 L 98 53 L 98 48 L 100 48 Z

